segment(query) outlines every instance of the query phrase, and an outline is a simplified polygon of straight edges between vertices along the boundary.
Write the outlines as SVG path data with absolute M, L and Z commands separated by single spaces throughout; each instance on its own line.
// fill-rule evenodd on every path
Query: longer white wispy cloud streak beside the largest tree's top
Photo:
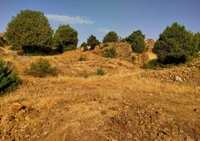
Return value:
M 63 24 L 94 24 L 94 21 L 79 16 L 77 17 L 69 17 L 65 15 L 45 15 L 45 16 L 49 20 Z

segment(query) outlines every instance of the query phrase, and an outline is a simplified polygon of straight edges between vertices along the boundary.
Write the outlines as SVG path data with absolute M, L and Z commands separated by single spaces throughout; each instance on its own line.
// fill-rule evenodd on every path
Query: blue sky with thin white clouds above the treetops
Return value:
M 200 0 L 0 0 L 0 32 L 25 9 L 42 11 L 54 30 L 69 24 L 78 31 L 79 45 L 91 34 L 102 41 L 108 31 L 124 38 L 138 29 L 157 40 L 173 22 L 200 32 Z

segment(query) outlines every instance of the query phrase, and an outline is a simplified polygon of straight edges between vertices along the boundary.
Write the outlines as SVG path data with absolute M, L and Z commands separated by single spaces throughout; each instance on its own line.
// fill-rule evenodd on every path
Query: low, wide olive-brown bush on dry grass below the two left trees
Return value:
M 49 60 L 39 58 L 30 64 L 30 69 L 26 69 L 25 74 L 34 77 L 46 77 L 47 75 L 57 75 L 57 69 L 52 67 Z

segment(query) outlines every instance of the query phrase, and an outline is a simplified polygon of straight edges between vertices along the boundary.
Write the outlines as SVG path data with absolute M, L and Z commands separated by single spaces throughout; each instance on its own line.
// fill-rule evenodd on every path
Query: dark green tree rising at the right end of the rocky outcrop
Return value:
M 141 30 L 134 31 L 131 35 L 126 37 L 124 40 L 131 44 L 134 52 L 142 53 L 145 50 L 145 35 L 142 34 Z

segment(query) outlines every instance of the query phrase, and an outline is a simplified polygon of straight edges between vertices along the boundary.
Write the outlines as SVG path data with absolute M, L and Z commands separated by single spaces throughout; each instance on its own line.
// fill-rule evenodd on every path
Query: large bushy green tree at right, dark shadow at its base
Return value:
M 187 61 L 198 50 L 195 36 L 177 22 L 160 34 L 154 51 L 163 64 L 179 64 Z

